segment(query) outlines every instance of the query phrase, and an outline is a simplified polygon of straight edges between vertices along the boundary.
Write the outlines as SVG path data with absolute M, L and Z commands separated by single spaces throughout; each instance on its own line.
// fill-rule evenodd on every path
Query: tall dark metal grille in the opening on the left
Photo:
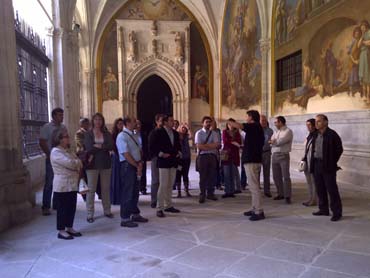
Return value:
M 49 59 L 45 43 L 32 28 L 15 18 L 17 66 L 20 91 L 19 117 L 23 158 L 42 153 L 39 147 L 40 128 L 48 122 L 47 68 Z

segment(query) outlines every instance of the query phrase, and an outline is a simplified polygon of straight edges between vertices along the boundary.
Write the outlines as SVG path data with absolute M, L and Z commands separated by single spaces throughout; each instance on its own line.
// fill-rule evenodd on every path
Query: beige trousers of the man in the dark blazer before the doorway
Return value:
M 172 207 L 172 186 L 175 178 L 176 168 L 159 168 L 158 210 Z

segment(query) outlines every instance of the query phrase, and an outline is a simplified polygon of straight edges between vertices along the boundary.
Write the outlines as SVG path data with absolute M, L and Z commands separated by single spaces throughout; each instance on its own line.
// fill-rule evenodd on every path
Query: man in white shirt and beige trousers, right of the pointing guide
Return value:
M 290 180 L 290 151 L 292 150 L 293 132 L 286 126 L 283 116 L 278 116 L 274 121 L 277 130 L 269 141 L 272 152 L 272 176 L 278 195 L 274 200 L 285 198 L 287 204 L 291 203 L 292 182 Z

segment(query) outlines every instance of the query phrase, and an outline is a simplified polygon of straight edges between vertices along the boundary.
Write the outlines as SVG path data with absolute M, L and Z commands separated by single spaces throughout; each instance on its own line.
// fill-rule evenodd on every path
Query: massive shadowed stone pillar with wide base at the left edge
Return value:
M 0 231 L 31 218 L 31 184 L 22 162 L 12 1 L 0 0 Z

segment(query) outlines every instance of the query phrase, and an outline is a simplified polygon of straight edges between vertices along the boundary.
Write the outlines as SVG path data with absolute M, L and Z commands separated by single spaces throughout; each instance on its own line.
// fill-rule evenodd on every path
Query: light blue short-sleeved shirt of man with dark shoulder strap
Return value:
M 116 145 L 119 161 L 126 161 L 124 153 L 130 153 L 135 161 L 141 160 L 141 147 L 137 136 L 131 130 L 124 128 L 117 136 Z

